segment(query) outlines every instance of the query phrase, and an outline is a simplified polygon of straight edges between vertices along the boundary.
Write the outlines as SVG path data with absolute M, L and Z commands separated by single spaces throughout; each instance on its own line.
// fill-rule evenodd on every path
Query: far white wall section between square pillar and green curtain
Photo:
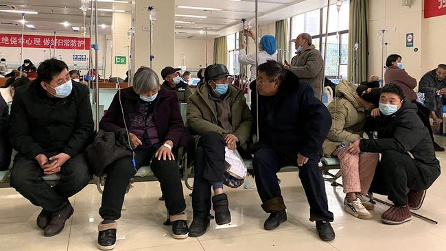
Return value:
M 175 62 L 172 67 L 183 65 L 185 55 L 185 66 L 188 70 L 199 69 L 206 66 L 206 43 L 205 39 L 175 39 Z M 213 39 L 207 42 L 207 62 L 213 63 Z M 192 75 L 194 77 L 194 75 Z

